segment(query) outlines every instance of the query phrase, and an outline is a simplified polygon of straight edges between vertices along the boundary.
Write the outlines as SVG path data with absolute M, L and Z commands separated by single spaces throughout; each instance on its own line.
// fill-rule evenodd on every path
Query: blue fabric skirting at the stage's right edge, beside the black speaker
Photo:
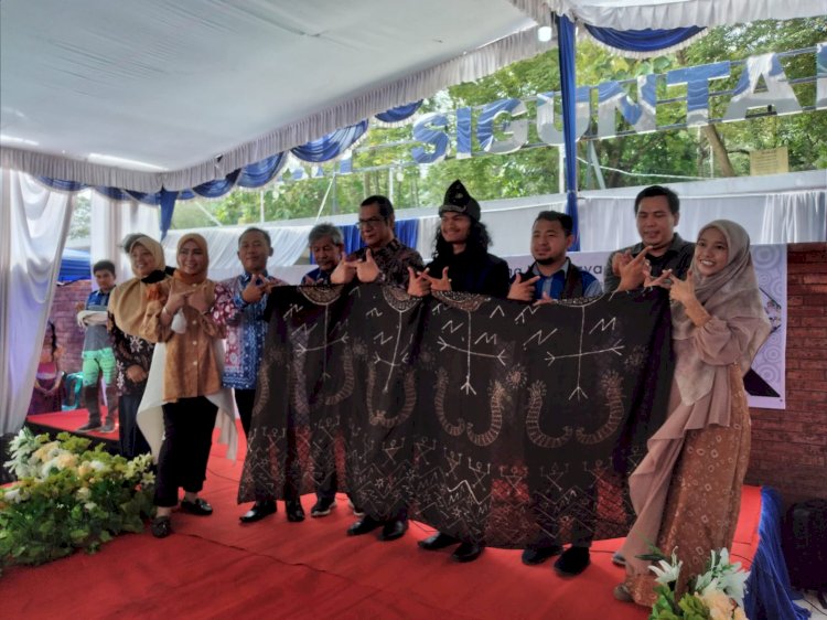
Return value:
M 809 611 L 793 602 L 793 588 L 781 549 L 781 496 L 775 489 L 761 489 L 759 546 L 747 579 L 744 611 L 752 620 L 804 620 Z

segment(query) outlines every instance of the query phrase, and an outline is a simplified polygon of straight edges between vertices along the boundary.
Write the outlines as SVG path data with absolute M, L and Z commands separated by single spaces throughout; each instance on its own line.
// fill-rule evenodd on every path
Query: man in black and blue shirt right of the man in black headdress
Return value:
M 543 211 L 537 215 L 531 226 L 531 257 L 535 261 L 524 271 L 525 275 L 517 274 L 514 278 L 508 292 L 509 299 L 541 303 L 555 299 L 601 295 L 600 281 L 573 265 L 567 256 L 569 247 L 574 243 L 572 225 L 570 215 L 557 211 Z M 573 576 L 586 570 L 591 562 L 591 530 L 582 527 L 576 531 L 571 547 L 563 552 L 562 546 L 549 535 L 557 530 L 557 524 L 544 520 L 543 514 L 538 516 L 538 524 L 545 535 L 538 536 L 526 547 L 523 552 L 523 564 L 543 564 L 549 557 L 562 553 L 555 563 L 557 573 Z

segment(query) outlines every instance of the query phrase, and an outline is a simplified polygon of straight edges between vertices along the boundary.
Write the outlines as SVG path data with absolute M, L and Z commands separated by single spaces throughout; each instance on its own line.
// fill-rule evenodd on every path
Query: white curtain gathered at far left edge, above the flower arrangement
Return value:
M 0 171 L 0 432 L 17 432 L 34 387 L 74 209 L 72 194 Z

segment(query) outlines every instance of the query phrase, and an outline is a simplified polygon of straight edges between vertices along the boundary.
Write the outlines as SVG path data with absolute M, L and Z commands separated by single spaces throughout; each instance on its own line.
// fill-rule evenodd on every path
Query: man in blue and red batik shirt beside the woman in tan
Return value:
M 213 319 L 227 328 L 222 382 L 225 387 L 233 388 L 247 438 L 256 403 L 258 366 L 267 338 L 267 321 L 264 320 L 267 297 L 273 286 L 286 284 L 268 275 L 267 260 L 270 256 L 272 245 L 267 231 L 247 228 L 238 237 L 238 260 L 244 274 L 215 287 Z M 257 498 L 250 510 L 239 519 L 241 523 L 255 523 L 275 512 L 276 500 L 262 496 Z M 287 502 L 287 517 L 290 521 L 304 519 L 298 498 Z

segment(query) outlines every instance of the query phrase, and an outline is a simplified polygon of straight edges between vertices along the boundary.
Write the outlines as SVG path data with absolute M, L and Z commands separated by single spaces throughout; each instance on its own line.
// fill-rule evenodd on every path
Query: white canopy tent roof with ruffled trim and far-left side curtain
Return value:
M 0 3 L 0 431 L 23 424 L 73 204 L 25 173 L 139 192 L 222 179 L 547 50 L 536 28 L 549 9 L 616 29 L 825 12 L 823 0 Z

